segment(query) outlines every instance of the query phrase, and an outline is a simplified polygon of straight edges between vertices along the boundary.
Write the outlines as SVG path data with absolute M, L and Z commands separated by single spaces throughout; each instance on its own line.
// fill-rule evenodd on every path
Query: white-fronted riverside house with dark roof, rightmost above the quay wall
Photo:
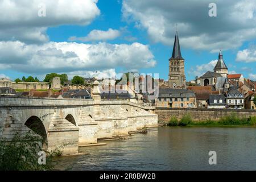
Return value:
M 244 97 L 237 89 L 232 88 L 226 94 L 226 104 L 229 109 L 243 109 Z

